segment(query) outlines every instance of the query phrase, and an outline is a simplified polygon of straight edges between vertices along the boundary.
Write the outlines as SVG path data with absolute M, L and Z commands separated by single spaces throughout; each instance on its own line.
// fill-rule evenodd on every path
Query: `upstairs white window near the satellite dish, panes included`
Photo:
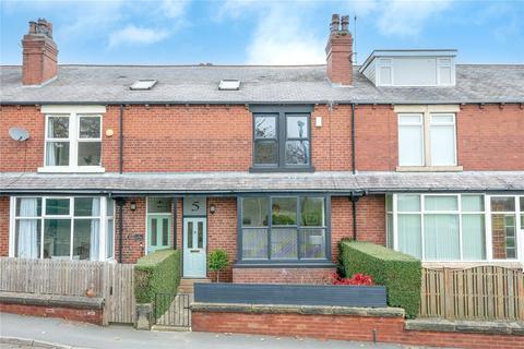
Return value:
M 44 106 L 44 166 L 39 172 L 103 172 L 102 115 L 105 107 Z

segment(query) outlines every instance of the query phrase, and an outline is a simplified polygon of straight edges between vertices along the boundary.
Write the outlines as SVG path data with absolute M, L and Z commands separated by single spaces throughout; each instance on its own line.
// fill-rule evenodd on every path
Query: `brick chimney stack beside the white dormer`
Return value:
M 338 14 L 333 14 L 325 46 L 327 77 L 333 84 L 352 85 L 353 36 L 348 28 L 348 15 L 341 19 Z

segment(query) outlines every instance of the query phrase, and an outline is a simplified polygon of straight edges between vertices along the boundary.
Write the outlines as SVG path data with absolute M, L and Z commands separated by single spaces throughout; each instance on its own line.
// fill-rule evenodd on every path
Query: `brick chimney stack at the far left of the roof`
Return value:
M 29 32 L 22 39 L 22 83 L 40 85 L 57 76 L 57 44 L 52 40 L 52 24 L 39 19 L 29 22 Z

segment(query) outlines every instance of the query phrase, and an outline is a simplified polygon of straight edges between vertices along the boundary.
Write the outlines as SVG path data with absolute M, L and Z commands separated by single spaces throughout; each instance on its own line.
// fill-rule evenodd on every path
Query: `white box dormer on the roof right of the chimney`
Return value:
M 376 86 L 454 86 L 455 50 L 376 50 L 360 73 Z

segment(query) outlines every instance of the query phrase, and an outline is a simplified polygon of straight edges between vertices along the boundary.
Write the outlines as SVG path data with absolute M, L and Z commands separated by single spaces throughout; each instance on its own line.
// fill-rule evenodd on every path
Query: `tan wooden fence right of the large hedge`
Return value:
M 422 268 L 420 316 L 524 320 L 523 272 L 501 266 Z

